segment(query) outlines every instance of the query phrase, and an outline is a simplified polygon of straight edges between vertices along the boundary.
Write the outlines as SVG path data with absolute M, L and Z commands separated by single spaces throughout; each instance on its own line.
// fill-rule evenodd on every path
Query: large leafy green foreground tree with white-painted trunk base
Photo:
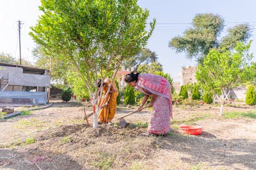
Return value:
M 149 11 L 136 0 L 41 0 L 41 4 L 44 14 L 30 35 L 47 55 L 74 65 L 93 106 L 102 94 L 103 82 L 97 90 L 97 79 L 104 81 L 125 58 L 138 54 L 155 28 L 154 19 L 146 31 Z M 93 127 L 97 127 L 100 107 L 95 110 Z

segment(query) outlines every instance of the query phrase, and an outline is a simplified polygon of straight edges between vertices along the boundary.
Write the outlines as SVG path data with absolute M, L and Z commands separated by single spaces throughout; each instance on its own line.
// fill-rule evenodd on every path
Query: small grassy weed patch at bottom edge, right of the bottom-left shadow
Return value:
M 92 168 L 97 168 L 97 169 L 111 169 L 112 164 L 114 163 L 115 156 L 109 156 L 104 152 L 100 152 L 98 154 L 97 162 L 91 163 L 93 166 Z

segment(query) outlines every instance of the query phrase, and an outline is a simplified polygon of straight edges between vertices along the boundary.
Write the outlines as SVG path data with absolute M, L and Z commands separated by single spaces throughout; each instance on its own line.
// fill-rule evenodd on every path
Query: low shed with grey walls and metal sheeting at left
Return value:
M 47 69 L 0 63 L 0 106 L 46 104 L 49 87 Z

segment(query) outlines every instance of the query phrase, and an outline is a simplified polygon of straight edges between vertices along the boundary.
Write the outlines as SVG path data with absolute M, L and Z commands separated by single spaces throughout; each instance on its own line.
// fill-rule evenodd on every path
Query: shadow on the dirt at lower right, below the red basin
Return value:
M 208 162 L 211 166 L 226 165 L 233 168 L 236 168 L 236 164 L 243 164 L 249 169 L 256 167 L 255 143 L 248 139 L 217 139 L 207 132 L 201 135 L 181 135 L 172 131 L 170 134 L 159 138 L 161 148 L 188 155 L 180 158 L 185 162 Z

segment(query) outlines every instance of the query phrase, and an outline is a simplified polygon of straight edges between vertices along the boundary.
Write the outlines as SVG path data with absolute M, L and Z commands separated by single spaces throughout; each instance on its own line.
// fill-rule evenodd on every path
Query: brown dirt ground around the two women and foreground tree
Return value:
M 117 118 L 135 107 L 119 106 L 114 125 L 93 128 L 77 102 L 50 102 L 0 122 L 0 169 L 256 169 L 256 119 L 224 118 L 219 106 L 174 106 L 172 131 L 142 136 L 150 109 L 125 117 L 130 126 L 121 128 Z M 224 107 L 241 111 L 256 107 Z M 188 124 L 203 126 L 202 134 L 181 134 L 178 127 Z

